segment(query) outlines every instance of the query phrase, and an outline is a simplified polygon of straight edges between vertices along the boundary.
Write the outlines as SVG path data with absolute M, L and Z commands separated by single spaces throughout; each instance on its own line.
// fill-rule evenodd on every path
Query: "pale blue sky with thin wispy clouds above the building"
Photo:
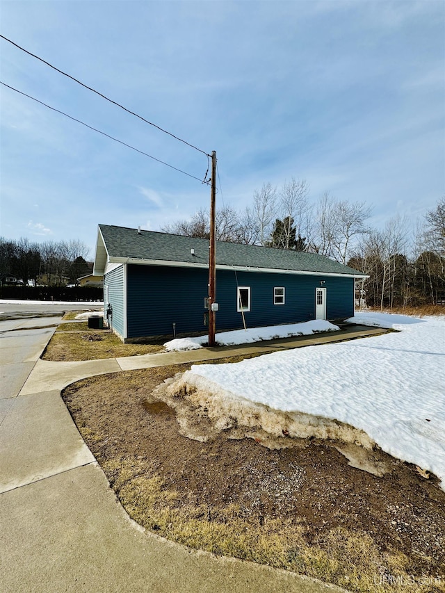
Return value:
M 204 152 L 218 205 L 307 179 L 416 220 L 445 192 L 445 3 L 2 0 L 0 32 Z M 201 179 L 207 158 L 0 39 L 0 79 Z M 0 236 L 159 230 L 209 187 L 0 88 Z

